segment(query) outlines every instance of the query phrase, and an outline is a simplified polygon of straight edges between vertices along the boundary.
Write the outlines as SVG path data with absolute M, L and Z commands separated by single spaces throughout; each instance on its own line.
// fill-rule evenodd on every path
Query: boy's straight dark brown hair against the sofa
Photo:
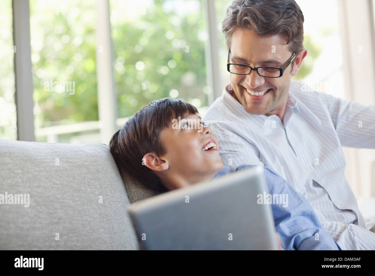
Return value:
M 170 126 L 172 119 L 197 114 L 195 106 L 183 99 L 162 98 L 155 100 L 131 116 L 110 141 L 111 154 L 120 172 L 129 175 L 148 188 L 167 192 L 153 170 L 142 165 L 147 152 L 158 156 L 166 153 L 160 142 L 160 132 Z

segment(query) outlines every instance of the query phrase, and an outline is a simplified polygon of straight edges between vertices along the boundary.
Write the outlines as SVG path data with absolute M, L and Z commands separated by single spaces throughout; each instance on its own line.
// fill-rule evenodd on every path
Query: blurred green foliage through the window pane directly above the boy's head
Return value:
M 118 116 L 131 116 L 152 100 L 171 96 L 207 105 L 201 2 L 189 1 L 196 9 L 181 14 L 183 7 L 174 9 L 174 3 L 183 2 L 156 0 L 144 13 L 133 8 L 136 17 L 128 20 L 115 14 L 120 2 L 110 1 Z

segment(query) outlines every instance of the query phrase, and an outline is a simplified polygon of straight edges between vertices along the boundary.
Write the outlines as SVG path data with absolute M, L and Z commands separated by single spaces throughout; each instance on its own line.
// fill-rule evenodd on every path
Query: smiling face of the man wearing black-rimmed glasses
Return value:
M 229 63 L 241 63 L 252 67 L 283 67 L 293 54 L 285 43 L 286 39 L 281 35 L 266 37 L 259 36 L 249 29 L 237 29 L 232 35 Z M 298 68 L 292 70 L 290 64 L 279 78 L 261 77 L 255 71 L 249 75 L 229 73 L 234 90 L 232 96 L 248 113 L 266 116 L 276 114 L 282 119 L 288 100 L 291 75 L 297 71 Z M 263 96 L 249 93 L 268 89 L 270 90 Z

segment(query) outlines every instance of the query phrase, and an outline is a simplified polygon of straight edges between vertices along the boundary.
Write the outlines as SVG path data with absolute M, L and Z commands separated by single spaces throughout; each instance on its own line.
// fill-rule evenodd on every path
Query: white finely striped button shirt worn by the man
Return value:
M 375 148 L 375 106 L 305 91 L 291 82 L 284 122 L 246 112 L 225 88 L 203 119 L 220 141 L 224 164 L 272 168 L 308 200 L 342 249 L 375 249 L 375 234 L 345 179 L 342 151 Z

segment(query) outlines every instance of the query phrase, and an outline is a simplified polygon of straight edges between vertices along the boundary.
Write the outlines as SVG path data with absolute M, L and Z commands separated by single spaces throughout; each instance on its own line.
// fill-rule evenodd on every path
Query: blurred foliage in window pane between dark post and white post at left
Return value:
M 30 1 L 34 114 L 39 122 L 98 120 L 96 9 L 92 1 Z M 45 82 L 74 81 L 75 94 L 45 91 Z

